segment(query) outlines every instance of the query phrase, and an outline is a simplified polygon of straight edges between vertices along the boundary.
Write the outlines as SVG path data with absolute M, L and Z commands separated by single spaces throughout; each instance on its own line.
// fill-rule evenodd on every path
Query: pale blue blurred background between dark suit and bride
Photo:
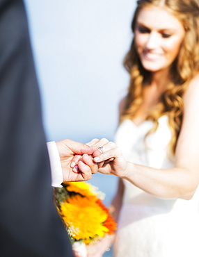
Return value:
M 47 140 L 113 140 L 129 75 L 135 0 L 26 0 Z M 106 193 L 114 176 L 90 181 Z M 106 256 L 109 256 L 106 255 Z

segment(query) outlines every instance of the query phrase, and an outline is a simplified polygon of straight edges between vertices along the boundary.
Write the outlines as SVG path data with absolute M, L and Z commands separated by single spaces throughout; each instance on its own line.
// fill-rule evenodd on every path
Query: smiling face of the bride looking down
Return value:
M 180 20 L 164 8 L 141 9 L 134 38 L 143 67 L 150 72 L 167 69 L 179 53 L 184 34 Z

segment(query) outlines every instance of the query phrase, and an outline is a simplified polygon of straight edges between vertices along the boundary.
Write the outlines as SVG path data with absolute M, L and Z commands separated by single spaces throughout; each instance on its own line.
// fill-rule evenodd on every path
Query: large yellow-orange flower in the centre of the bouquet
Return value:
M 74 188 L 73 188 L 74 190 Z M 103 237 L 109 232 L 103 222 L 108 214 L 95 201 L 76 194 L 61 204 L 61 215 L 66 226 L 72 228 L 72 237 L 76 240 L 88 241 Z

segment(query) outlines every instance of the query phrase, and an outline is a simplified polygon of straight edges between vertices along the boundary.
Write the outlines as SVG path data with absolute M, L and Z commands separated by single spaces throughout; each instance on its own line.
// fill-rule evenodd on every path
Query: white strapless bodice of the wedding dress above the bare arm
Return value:
M 118 127 L 115 142 L 122 149 L 126 160 L 154 168 L 173 167 L 168 158 L 168 143 L 171 133 L 166 115 L 159 118 L 157 131 L 145 135 L 153 127 L 152 121 L 145 121 L 136 126 L 130 119 L 125 119 Z

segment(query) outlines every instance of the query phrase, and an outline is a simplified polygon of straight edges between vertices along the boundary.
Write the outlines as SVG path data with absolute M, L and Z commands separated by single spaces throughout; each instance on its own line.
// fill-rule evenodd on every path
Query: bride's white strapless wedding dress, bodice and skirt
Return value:
M 115 142 L 128 161 L 157 169 L 173 167 L 167 153 L 168 117 L 159 118 L 157 131 L 144 140 L 152 126 L 151 121 L 136 126 L 126 119 L 118 127 Z M 123 182 L 125 194 L 113 256 L 199 257 L 199 190 L 189 201 L 161 199 Z

